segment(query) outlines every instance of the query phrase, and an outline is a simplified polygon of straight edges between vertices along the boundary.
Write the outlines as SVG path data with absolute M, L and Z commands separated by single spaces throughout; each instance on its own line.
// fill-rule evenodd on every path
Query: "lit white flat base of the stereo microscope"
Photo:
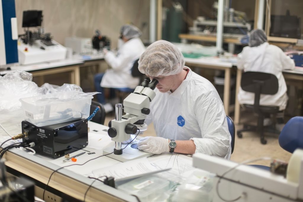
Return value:
M 125 149 L 123 149 L 123 153 L 120 155 L 112 153 L 114 151 L 114 147 L 107 147 L 103 150 L 103 154 L 109 154 L 108 157 L 116 159 L 121 162 L 131 161 L 137 158 L 149 157 L 152 156 L 152 153 L 140 151 L 138 149 L 132 148 L 132 144 L 136 144 L 138 141 L 134 141 L 134 143 L 129 144 Z M 127 144 L 122 144 L 122 148 L 124 148 Z M 112 153 L 112 154 L 110 154 Z

